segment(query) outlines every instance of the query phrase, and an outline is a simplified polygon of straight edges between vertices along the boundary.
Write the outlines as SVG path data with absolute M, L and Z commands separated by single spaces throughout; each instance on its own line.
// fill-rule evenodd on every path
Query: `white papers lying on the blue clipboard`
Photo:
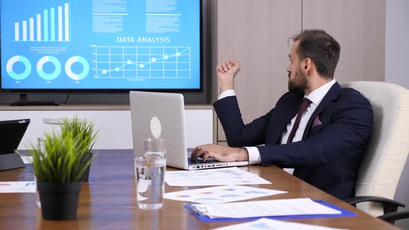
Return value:
M 209 218 L 257 218 L 283 215 L 327 215 L 340 214 L 309 198 L 260 200 L 229 204 L 192 204 L 191 209 Z

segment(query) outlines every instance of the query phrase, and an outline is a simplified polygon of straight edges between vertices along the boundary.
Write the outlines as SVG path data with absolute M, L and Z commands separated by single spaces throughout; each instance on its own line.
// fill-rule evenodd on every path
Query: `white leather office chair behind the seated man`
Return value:
M 409 153 L 409 90 L 386 82 L 345 82 L 372 104 L 372 136 L 362 159 L 355 193 L 345 202 L 373 216 L 394 213 L 392 200 Z M 361 203 L 363 202 L 363 203 Z

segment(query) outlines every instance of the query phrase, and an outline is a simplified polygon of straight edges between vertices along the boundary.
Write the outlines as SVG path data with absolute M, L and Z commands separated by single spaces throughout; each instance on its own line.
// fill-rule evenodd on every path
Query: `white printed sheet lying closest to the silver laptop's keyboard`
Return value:
M 244 185 L 244 184 L 271 184 L 266 179 L 232 168 L 215 168 L 195 171 L 166 172 L 165 181 L 169 186 L 218 186 L 218 185 Z

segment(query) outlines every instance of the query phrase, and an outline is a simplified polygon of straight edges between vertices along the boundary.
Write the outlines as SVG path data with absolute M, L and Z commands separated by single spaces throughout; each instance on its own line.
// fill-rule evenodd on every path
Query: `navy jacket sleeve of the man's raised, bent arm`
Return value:
M 214 103 L 214 109 L 223 126 L 227 143 L 231 147 L 261 145 L 266 139 L 269 114 L 245 125 L 236 96 L 229 96 Z

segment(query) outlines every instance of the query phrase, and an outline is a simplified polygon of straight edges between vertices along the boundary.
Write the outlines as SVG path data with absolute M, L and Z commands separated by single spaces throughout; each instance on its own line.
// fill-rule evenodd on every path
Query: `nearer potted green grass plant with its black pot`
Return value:
M 43 150 L 33 144 L 28 150 L 44 220 L 76 219 L 82 175 L 93 159 L 84 160 L 92 138 L 95 136 L 80 139 L 73 132 L 53 132 L 44 135 Z

